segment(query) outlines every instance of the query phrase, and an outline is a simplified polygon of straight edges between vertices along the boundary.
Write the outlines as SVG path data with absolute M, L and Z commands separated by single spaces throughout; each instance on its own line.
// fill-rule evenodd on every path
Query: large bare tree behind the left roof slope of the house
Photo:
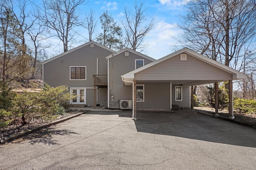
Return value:
M 74 41 L 75 26 L 81 25 L 78 6 L 85 0 L 43 0 L 44 16 L 41 21 L 62 41 L 64 52 L 68 51 L 68 43 Z

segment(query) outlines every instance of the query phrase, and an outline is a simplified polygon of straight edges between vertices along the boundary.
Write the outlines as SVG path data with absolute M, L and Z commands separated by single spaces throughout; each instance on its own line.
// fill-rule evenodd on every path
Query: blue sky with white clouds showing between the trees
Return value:
M 177 45 L 177 42 L 171 36 L 180 35 L 181 30 L 175 27 L 180 22 L 179 15 L 184 15 L 184 5 L 189 0 L 145 0 L 144 8 L 147 8 L 146 16 L 150 20 L 155 18 L 154 29 L 150 31 L 144 39 L 144 43 L 148 45 L 142 53 L 154 59 L 160 59 L 173 52 L 172 45 Z M 30 0 L 30 2 L 33 2 Z M 40 1 L 34 1 L 38 6 L 41 6 Z M 87 4 L 80 6 L 80 17 L 85 18 L 90 10 L 94 11 L 94 18 L 98 20 L 97 29 L 94 33 L 101 33 L 101 24 L 99 17 L 108 10 L 114 20 L 120 25 L 120 20 L 124 17 L 124 8 L 132 10 L 134 8 L 134 0 L 88 0 Z M 76 30 L 76 43 L 72 47 L 88 42 L 88 33 L 85 29 L 74 28 Z M 58 55 L 62 53 L 62 43 L 56 37 L 48 39 L 52 44 L 51 49 L 48 49 L 50 55 Z

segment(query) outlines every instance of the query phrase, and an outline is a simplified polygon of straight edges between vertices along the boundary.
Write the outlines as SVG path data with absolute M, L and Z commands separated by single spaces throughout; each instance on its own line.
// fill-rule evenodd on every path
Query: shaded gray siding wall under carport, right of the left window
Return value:
M 136 102 L 137 109 L 170 109 L 170 83 L 144 84 L 144 102 Z

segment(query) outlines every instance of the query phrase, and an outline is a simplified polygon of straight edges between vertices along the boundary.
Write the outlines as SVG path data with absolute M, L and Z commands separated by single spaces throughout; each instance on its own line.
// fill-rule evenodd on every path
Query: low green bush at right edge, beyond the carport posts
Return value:
M 244 114 L 256 114 L 256 101 L 247 99 L 234 100 L 234 109 Z

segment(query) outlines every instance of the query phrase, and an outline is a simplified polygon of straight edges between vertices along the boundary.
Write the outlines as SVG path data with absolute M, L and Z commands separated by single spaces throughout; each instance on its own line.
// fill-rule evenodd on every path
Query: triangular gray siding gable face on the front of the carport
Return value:
M 232 80 L 232 74 L 224 72 L 187 54 L 181 61 L 174 56 L 155 66 L 135 74 L 136 80 Z

